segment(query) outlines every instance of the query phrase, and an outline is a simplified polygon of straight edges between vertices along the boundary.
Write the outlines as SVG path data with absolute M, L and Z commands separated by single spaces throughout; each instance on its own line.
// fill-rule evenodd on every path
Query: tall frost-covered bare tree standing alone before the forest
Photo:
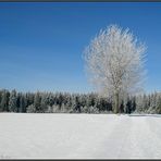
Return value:
M 140 91 L 145 77 L 145 46 L 129 29 L 110 25 L 85 49 L 86 69 L 99 94 L 112 97 L 114 112 L 121 99 Z

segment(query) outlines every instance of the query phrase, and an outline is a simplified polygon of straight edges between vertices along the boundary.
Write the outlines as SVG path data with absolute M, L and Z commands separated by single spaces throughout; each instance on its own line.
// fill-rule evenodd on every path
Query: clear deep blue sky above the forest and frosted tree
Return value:
M 0 88 L 89 92 L 83 51 L 106 26 L 146 42 L 147 91 L 161 89 L 161 2 L 0 2 Z

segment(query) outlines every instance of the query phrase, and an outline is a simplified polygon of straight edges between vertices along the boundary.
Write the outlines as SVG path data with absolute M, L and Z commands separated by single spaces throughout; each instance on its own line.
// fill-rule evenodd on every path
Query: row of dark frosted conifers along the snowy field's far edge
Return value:
M 161 113 L 161 92 L 128 96 L 121 100 L 121 113 Z M 114 100 L 95 92 L 18 92 L 0 90 L 0 112 L 20 113 L 113 113 Z

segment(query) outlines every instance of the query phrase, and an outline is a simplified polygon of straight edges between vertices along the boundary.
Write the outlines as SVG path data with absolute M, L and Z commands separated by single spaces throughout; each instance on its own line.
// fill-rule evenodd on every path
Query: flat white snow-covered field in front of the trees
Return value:
M 0 113 L 3 159 L 161 159 L 161 115 Z

